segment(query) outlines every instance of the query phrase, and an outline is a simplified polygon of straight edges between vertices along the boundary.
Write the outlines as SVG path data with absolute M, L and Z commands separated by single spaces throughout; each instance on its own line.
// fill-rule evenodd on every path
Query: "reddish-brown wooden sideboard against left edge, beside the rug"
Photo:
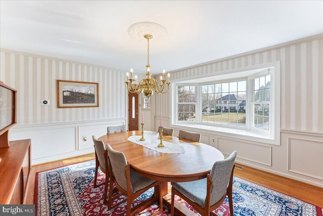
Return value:
M 31 170 L 31 140 L 0 148 L 0 204 L 25 204 Z

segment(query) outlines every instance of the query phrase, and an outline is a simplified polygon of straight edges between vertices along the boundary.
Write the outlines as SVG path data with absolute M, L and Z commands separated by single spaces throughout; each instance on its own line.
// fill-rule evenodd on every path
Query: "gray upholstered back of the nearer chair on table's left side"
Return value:
M 105 145 L 109 155 L 110 164 L 114 174 L 116 183 L 125 191 L 127 191 L 127 178 L 125 168 L 127 166 L 127 159 L 124 153 L 114 150 L 109 144 Z M 132 191 L 132 185 L 130 183 Z

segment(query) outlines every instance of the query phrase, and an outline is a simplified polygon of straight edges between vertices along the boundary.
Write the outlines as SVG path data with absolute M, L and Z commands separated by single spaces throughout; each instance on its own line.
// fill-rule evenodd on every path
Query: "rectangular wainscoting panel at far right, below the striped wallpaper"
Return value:
M 323 180 L 323 142 L 289 139 L 289 171 Z

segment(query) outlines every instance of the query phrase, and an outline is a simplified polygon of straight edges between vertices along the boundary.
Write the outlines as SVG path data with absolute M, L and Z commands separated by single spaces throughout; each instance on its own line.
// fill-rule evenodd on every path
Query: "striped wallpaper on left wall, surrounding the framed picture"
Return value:
M 0 80 L 18 92 L 17 125 L 127 116 L 124 71 L 10 50 L 1 50 L 0 62 Z M 99 107 L 57 108 L 57 79 L 98 82 Z

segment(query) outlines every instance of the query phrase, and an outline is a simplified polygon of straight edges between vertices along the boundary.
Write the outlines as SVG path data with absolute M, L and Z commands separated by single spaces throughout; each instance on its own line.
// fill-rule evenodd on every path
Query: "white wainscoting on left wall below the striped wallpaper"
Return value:
M 93 153 L 92 135 L 99 138 L 106 134 L 107 125 L 123 125 L 125 122 L 126 118 L 29 126 L 15 125 L 10 129 L 9 140 L 31 139 L 31 163 L 34 165 Z

